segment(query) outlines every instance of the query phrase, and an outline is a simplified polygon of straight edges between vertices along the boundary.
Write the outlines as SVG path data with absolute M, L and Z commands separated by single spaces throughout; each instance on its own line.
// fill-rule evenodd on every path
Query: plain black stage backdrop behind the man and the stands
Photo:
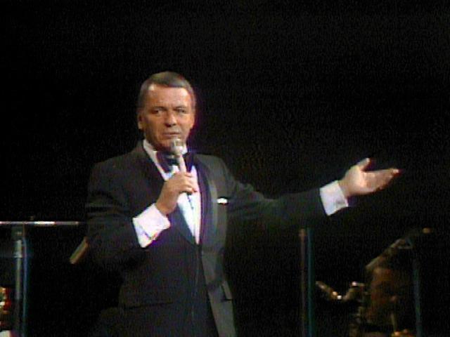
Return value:
M 198 91 L 192 147 L 269 196 L 328 183 L 368 156 L 404 170 L 316 230 L 317 279 L 345 291 L 411 227 L 432 227 L 430 289 L 446 288 L 450 9 L 429 2 L 3 1 L 1 220 L 84 220 L 93 164 L 140 137 L 141 82 L 173 70 Z M 84 227 L 30 233 L 30 333 L 84 333 L 115 280 L 68 265 Z M 295 233 L 246 227 L 233 242 L 241 331 L 291 336 Z

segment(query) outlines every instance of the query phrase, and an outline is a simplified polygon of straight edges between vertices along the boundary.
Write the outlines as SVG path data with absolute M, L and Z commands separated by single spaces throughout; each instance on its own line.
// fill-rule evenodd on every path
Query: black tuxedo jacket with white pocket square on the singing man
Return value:
M 195 154 L 194 164 L 202 195 L 199 246 L 179 209 L 155 242 L 139 246 L 132 218 L 158 199 L 164 183 L 141 143 L 128 154 L 96 164 L 91 173 L 89 245 L 96 262 L 122 275 L 120 306 L 136 312 L 128 319 L 134 322 L 127 322 L 130 336 L 191 336 L 183 326 L 193 293 L 198 296 L 199 291 L 205 292 L 219 336 L 235 336 L 223 263 L 229 218 L 262 218 L 267 227 L 305 227 L 325 216 L 319 190 L 266 199 L 237 182 L 217 157 Z

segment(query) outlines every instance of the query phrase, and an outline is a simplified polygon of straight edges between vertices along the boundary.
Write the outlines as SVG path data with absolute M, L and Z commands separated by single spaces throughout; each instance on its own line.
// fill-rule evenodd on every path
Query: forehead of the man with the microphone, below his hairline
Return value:
M 146 95 L 146 105 L 191 106 L 192 98 L 185 88 L 173 88 L 151 84 Z

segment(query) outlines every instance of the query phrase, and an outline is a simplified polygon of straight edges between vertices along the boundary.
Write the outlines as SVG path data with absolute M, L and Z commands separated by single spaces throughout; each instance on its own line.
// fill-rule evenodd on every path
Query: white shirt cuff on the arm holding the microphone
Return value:
M 158 238 L 160 232 L 170 227 L 167 216 L 152 204 L 145 209 L 139 216 L 133 218 L 134 230 L 138 237 L 139 245 L 144 248 Z

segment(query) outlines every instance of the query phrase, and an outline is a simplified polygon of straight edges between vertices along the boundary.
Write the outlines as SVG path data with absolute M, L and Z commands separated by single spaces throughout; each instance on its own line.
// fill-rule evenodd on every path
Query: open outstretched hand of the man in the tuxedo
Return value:
M 340 188 L 347 199 L 383 190 L 400 173 L 399 169 L 366 171 L 370 164 L 371 159 L 368 158 L 359 161 L 339 180 Z

